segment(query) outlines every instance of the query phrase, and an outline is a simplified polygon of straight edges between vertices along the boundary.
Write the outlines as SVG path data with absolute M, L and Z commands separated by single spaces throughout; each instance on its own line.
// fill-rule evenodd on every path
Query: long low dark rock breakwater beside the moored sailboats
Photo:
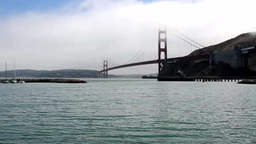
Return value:
M 72 79 L 24 79 L 26 83 L 31 82 L 42 82 L 42 83 L 87 83 L 83 80 L 72 80 Z

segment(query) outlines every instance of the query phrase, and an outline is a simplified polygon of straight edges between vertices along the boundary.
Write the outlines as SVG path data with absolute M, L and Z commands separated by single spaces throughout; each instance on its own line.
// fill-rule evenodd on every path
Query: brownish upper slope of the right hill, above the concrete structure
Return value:
M 240 48 L 256 46 L 256 32 L 244 33 L 238 35 L 236 38 L 226 40 L 223 43 L 196 50 L 190 53 L 189 56 L 210 55 L 211 52 L 231 50 L 235 46 L 238 46 Z

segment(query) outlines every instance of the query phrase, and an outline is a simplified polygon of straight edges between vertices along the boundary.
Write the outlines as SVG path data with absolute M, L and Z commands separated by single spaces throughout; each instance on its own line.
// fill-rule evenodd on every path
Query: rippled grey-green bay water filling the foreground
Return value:
M 256 143 L 256 86 L 0 84 L 0 143 Z

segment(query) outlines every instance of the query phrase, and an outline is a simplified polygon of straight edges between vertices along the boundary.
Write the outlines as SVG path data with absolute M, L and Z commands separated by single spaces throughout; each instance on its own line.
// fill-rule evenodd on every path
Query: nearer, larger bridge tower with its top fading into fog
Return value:
M 162 71 L 162 67 L 167 61 L 167 35 L 166 28 L 158 29 L 158 75 Z M 164 52 L 164 59 L 161 59 L 161 53 Z

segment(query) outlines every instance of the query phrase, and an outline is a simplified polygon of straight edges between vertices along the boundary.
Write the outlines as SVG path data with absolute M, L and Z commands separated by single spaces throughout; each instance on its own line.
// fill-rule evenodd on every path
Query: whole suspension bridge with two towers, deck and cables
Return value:
M 158 40 L 151 42 L 139 49 L 126 63 L 117 64 L 114 61 L 104 60 L 100 66 L 103 69 L 98 71 L 98 77 L 107 78 L 109 70 L 155 63 L 158 63 L 158 76 L 161 77 L 161 71 L 166 63 L 210 58 L 209 55 L 189 56 L 191 52 L 205 46 L 170 28 L 159 28 Z

